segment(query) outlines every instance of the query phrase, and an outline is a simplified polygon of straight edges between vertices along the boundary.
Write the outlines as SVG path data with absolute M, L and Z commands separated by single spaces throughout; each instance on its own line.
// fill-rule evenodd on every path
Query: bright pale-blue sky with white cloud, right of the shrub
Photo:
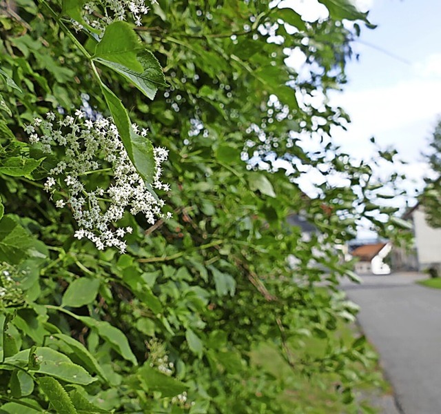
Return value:
M 356 3 L 369 10 L 369 20 L 378 27 L 362 27 L 359 41 L 353 44 L 360 59 L 348 63 L 344 91 L 331 96 L 331 103 L 345 108 L 352 120 L 347 132 L 334 131 L 334 142 L 356 158 L 373 154 L 371 137 L 382 148 L 393 146 L 401 159 L 409 161 L 400 169 L 409 177 L 405 186 L 421 189 L 429 170 L 421 152 L 427 151 L 441 116 L 441 0 Z M 307 21 L 327 17 L 317 0 L 286 0 L 285 5 Z M 289 60 L 294 67 L 302 63 L 299 56 Z M 304 177 L 303 186 L 299 184 L 308 193 L 313 177 Z

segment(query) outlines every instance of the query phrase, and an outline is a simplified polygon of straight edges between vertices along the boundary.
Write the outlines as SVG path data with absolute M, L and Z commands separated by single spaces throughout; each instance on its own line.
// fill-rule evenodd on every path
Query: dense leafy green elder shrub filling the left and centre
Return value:
M 104 32 L 83 21 L 82 1 L 0 9 L 2 413 L 282 413 L 280 384 L 250 362 L 262 342 L 307 377 L 332 371 L 342 402 L 369 380 L 348 368 L 369 366 L 365 344 L 334 338 L 357 311 L 338 291 L 355 275 L 336 246 L 360 217 L 381 225 L 372 212 L 388 210 L 368 203 L 380 189 L 369 164 L 332 144 L 348 117 L 326 99 L 351 55 L 342 19 L 367 18 L 347 0 L 321 2 L 329 19 L 305 23 L 266 0 L 161 0 L 142 27 Z M 300 74 L 285 63 L 294 48 L 307 59 Z M 126 212 L 123 255 L 74 237 L 72 202 L 57 208 L 45 191 L 70 159 L 25 132 L 78 109 L 112 117 L 152 197 L 153 148 L 169 150 L 171 190 L 157 192 L 172 218 Z M 303 149 L 305 136 L 320 150 Z M 296 184 L 311 169 L 323 177 L 315 198 Z M 85 191 L 112 186 L 105 168 L 84 174 Z M 315 224 L 311 237 L 287 225 L 291 213 Z M 327 353 L 294 364 L 288 341 L 304 337 Z

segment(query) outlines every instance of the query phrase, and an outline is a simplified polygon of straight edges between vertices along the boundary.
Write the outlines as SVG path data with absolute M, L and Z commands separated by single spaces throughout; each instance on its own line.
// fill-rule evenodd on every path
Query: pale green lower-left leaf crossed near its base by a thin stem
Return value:
M 39 362 L 39 368 L 32 370 L 35 373 L 51 375 L 72 384 L 88 385 L 96 381 L 96 378 L 92 377 L 82 366 L 74 364 L 66 355 L 58 351 L 41 346 L 36 348 L 35 354 Z M 30 349 L 25 349 L 6 358 L 5 362 L 25 368 L 28 366 L 30 355 L 32 355 Z

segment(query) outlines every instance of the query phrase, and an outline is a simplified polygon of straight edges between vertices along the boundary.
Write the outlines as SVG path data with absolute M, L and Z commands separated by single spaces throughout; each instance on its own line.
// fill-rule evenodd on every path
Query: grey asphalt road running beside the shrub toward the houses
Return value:
M 424 278 L 367 275 L 361 285 L 343 284 L 404 414 L 441 414 L 441 290 L 415 284 Z

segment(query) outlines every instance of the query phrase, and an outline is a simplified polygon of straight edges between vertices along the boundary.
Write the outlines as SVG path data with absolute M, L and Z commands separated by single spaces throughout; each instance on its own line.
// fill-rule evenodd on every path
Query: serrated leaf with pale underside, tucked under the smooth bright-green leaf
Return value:
M 135 71 L 121 63 L 107 61 L 101 58 L 97 58 L 96 61 L 123 75 L 129 81 L 132 81 L 134 86 L 141 90 L 147 98 L 154 99 L 158 87 L 167 86 L 161 65 L 158 59 L 156 59 L 149 50 L 139 51 L 136 55 L 136 59 L 141 63 L 143 70 Z

